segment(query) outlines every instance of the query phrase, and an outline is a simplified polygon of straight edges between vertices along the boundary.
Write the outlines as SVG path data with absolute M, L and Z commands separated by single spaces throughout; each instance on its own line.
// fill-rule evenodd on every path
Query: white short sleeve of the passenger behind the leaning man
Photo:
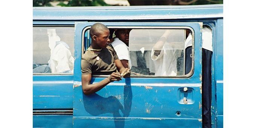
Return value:
M 129 51 L 126 46 L 117 45 L 116 47 L 114 47 L 114 50 L 116 51 L 116 54 L 120 60 L 126 59 L 129 61 Z

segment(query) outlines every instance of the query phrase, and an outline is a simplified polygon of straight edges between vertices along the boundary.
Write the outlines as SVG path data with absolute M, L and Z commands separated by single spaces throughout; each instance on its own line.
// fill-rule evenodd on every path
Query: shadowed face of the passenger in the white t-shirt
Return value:
M 127 46 L 129 46 L 129 34 L 131 29 L 118 29 L 115 32 L 115 35 L 119 40 L 123 41 Z

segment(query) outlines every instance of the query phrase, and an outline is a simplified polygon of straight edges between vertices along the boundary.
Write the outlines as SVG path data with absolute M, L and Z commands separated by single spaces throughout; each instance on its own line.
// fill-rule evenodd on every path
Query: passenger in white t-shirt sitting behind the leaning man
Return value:
M 112 39 L 112 46 L 125 68 L 131 68 L 131 59 L 129 53 L 129 34 L 131 29 L 115 29 L 115 38 Z

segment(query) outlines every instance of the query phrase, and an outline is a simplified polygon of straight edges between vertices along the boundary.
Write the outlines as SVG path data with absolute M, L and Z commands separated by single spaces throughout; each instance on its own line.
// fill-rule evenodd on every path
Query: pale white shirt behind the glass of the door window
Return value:
M 170 50 L 166 50 L 170 49 Z M 163 45 L 158 56 L 151 51 L 151 59 L 155 66 L 156 76 L 176 76 L 177 75 L 177 58 L 180 56 L 179 50 L 175 50 L 171 45 Z

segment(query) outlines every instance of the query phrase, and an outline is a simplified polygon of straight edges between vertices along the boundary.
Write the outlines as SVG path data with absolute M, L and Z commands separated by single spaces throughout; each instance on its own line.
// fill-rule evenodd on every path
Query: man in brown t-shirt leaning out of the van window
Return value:
M 110 31 L 104 24 L 95 23 L 90 28 L 91 45 L 81 58 L 82 90 L 86 95 L 101 90 L 110 82 L 130 76 L 130 69 L 123 67 L 110 44 L 109 36 Z M 91 84 L 91 75 L 110 76 Z

